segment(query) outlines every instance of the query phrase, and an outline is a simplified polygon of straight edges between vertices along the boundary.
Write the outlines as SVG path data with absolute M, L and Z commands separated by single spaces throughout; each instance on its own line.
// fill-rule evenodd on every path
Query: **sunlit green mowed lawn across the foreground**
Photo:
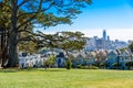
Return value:
M 0 69 L 0 88 L 133 88 L 133 70 Z

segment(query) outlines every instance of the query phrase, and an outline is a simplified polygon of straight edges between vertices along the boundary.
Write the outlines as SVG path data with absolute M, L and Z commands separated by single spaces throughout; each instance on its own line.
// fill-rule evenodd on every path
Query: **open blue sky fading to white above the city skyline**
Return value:
M 101 36 L 106 30 L 112 40 L 133 40 L 133 0 L 92 0 L 83 13 L 73 20 L 72 25 L 61 24 L 45 30 L 45 33 L 58 31 L 81 31 L 86 36 Z M 130 34 L 129 34 L 130 33 Z

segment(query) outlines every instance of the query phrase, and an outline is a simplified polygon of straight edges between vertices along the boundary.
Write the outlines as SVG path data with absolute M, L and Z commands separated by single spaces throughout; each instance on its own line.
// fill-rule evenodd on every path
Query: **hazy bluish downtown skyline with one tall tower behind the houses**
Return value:
M 112 41 L 110 36 L 106 35 L 106 31 L 103 30 L 102 37 L 93 36 L 86 41 L 86 45 L 84 46 L 85 51 L 101 51 L 101 50 L 119 50 L 126 47 L 129 43 L 124 41 Z

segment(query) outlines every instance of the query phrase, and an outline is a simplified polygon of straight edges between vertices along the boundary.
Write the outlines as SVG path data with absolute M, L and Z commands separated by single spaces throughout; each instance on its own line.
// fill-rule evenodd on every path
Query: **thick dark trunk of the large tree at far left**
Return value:
M 12 16 L 11 16 L 11 30 L 9 36 L 9 61 L 7 67 L 17 67 L 19 64 L 18 51 L 17 51 L 17 41 L 18 41 L 18 29 L 17 29 L 17 3 L 18 0 L 11 0 Z

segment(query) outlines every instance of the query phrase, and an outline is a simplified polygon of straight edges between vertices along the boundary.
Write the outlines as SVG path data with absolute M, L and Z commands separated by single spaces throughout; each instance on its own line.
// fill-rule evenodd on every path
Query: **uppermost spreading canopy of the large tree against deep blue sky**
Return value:
M 2 9 L 2 13 L 9 15 L 16 10 L 18 21 L 24 19 L 18 23 L 19 29 L 28 22 L 41 26 L 71 23 L 71 19 L 81 13 L 81 8 L 90 3 L 91 0 L 1 0 L 0 6 L 7 9 Z

